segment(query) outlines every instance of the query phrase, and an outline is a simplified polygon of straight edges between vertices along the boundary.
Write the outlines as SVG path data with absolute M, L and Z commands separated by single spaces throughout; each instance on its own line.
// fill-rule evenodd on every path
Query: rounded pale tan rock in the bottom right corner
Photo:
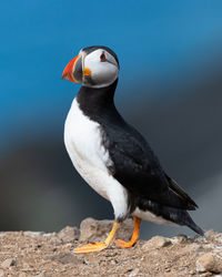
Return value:
M 205 271 L 210 271 L 213 274 L 222 273 L 222 259 L 212 253 L 206 253 L 201 255 L 198 258 L 195 265 L 196 265 L 196 270 L 199 273 L 205 273 Z

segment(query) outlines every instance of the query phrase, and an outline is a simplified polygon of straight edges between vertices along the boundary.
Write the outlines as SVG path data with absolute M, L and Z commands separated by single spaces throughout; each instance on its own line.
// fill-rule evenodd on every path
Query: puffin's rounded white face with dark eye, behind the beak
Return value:
M 119 74 L 119 65 L 115 59 L 105 50 L 98 49 L 82 54 L 82 68 L 90 71 L 90 75 L 83 76 L 83 85 L 90 88 L 104 88 L 113 83 Z

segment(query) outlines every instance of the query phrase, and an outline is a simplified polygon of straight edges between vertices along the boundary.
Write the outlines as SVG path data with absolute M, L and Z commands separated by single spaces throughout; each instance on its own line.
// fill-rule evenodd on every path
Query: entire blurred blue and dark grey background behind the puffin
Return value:
M 168 174 L 222 232 L 222 1 L 3 1 L 0 9 L 0 230 L 113 218 L 78 175 L 63 125 L 79 85 L 67 63 L 93 44 L 120 60 L 115 104 Z M 142 237 L 193 235 L 143 222 Z

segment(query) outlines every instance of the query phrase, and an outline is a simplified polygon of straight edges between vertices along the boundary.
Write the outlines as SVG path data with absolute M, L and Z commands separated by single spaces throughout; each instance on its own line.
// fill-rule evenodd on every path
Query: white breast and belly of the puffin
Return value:
M 115 216 L 127 213 L 127 191 L 107 168 L 112 161 L 101 143 L 100 124 L 82 113 L 75 99 L 64 125 L 64 144 L 77 171 L 97 193 L 111 201 Z

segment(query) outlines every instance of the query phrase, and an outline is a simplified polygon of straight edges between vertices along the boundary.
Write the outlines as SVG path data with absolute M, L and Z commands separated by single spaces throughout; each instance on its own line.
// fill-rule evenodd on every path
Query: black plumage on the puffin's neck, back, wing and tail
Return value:
M 164 173 L 147 141 L 117 111 L 113 102 L 117 83 L 118 80 L 102 89 L 81 86 L 77 100 L 82 112 L 101 126 L 102 144 L 112 161 L 108 167 L 128 189 L 129 213 L 139 207 L 203 235 L 186 212 L 198 205 Z

